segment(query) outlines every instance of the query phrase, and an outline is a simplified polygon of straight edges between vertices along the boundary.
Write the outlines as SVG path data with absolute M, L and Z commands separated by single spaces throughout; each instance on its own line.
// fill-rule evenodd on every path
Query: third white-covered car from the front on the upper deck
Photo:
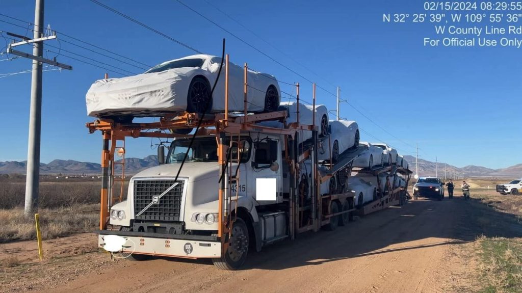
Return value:
M 319 160 L 337 162 L 343 152 L 359 146 L 360 134 L 357 122 L 350 120 L 330 120 L 329 141 L 323 142 L 324 152 L 319 154 Z

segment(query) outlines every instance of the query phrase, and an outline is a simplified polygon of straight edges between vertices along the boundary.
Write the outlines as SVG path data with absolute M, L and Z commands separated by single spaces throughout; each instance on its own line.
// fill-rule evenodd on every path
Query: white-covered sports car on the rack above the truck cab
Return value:
M 131 119 L 168 113 L 223 112 L 225 65 L 216 88 L 221 57 L 192 55 L 161 63 L 143 74 L 100 79 L 86 94 L 87 115 Z M 250 112 L 275 111 L 279 84 L 274 76 L 248 70 L 247 107 Z M 229 111 L 244 110 L 244 70 L 229 65 Z

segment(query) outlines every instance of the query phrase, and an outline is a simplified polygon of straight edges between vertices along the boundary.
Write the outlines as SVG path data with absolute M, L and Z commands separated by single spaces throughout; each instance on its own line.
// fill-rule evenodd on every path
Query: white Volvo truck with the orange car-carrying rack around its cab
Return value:
M 100 247 L 132 260 L 210 258 L 219 268 L 235 270 L 249 249 L 348 224 L 355 205 L 347 184 L 352 162 L 365 148 L 343 152 L 335 164 L 319 164 L 319 145 L 331 142 L 318 138 L 316 125 L 302 125 L 299 118 L 287 124 L 286 111 L 247 113 L 246 79 L 244 95 L 241 114 L 178 113 L 155 123 L 87 124 L 103 141 Z M 283 126 L 262 125 L 274 120 Z M 194 137 L 180 134 L 198 125 Z M 303 131 L 312 138 L 301 141 Z M 123 187 L 119 194 L 115 190 L 115 167 L 125 169 L 125 139 L 139 137 L 174 140 L 166 158 L 158 147 L 159 166 L 131 178 L 125 199 Z M 115 154 L 122 160 L 115 161 Z

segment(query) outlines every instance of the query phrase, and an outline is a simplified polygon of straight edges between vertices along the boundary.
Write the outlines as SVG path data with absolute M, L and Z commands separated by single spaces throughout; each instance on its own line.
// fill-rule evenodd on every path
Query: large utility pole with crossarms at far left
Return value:
M 40 176 L 40 137 L 41 137 L 41 121 L 42 121 L 42 73 L 43 63 L 51 64 L 60 68 L 72 70 L 73 67 L 43 58 L 43 42 L 46 40 L 56 39 L 56 35 L 43 35 L 43 16 L 44 16 L 44 0 L 35 0 L 34 6 L 34 33 L 33 39 L 26 36 L 7 33 L 16 38 L 22 39 L 20 42 L 8 44 L 7 53 L 18 55 L 21 57 L 32 59 L 32 77 L 31 77 L 31 102 L 29 111 L 29 138 L 27 148 L 27 175 L 26 175 L 26 199 L 24 206 L 24 214 L 26 217 L 32 215 L 34 209 L 38 206 L 38 186 Z M 13 50 L 13 47 L 32 44 L 33 53 Z

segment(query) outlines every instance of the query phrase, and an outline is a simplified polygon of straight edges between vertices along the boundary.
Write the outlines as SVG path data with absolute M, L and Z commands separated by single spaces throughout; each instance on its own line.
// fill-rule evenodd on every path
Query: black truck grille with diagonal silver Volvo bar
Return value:
M 165 190 L 174 184 L 174 180 L 136 180 L 134 181 L 134 214 L 137 215 L 153 197 L 160 196 Z M 180 221 L 181 198 L 183 196 L 183 180 L 177 180 L 179 184 L 161 197 L 158 204 L 152 204 L 136 219 L 153 221 Z

